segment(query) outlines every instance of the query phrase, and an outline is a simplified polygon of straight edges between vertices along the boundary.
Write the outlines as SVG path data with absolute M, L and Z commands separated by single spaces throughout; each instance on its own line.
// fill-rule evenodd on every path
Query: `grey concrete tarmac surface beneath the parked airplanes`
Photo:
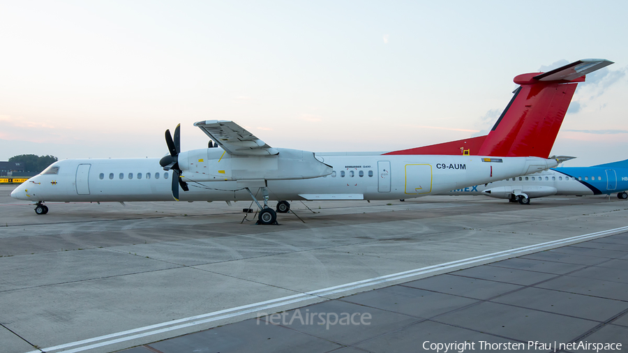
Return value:
M 13 188 L 0 186 L 0 352 L 628 345 L 616 197 L 292 202 L 299 217 L 261 226 L 241 223 L 248 202 L 51 203 L 37 216 Z M 576 348 L 563 351 L 595 352 Z

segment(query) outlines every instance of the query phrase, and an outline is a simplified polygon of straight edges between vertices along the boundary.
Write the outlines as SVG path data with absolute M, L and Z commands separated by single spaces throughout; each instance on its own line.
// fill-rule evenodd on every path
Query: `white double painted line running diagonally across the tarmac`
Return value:
M 499 251 L 497 253 L 491 253 L 491 254 L 486 254 L 486 255 L 479 255 L 476 257 L 469 257 L 467 259 L 463 259 L 463 260 L 456 260 L 456 261 L 452 261 L 452 262 L 445 262 L 443 264 L 435 264 L 432 266 L 426 266 L 426 267 L 422 267 L 420 269 L 413 269 L 413 270 L 408 270 L 408 271 L 402 271 L 402 272 L 398 272 L 398 273 L 392 273 L 386 276 L 379 276 L 379 277 L 375 277 L 375 278 L 368 278 L 366 280 L 359 280 L 356 282 L 352 282 L 352 283 L 345 283 L 344 285 L 336 285 L 333 287 L 327 287 L 327 288 L 322 288 L 320 290 L 314 290 L 311 292 L 304 292 L 304 293 L 300 293 L 300 294 L 293 294 L 290 296 L 284 296 L 281 298 L 277 298 L 277 299 L 271 299 L 268 301 L 262 301 L 262 302 L 257 302 L 257 303 L 251 303 L 245 306 L 237 306 L 235 308 L 229 308 L 229 309 L 224 309 L 224 310 L 218 310 L 215 311 L 213 313 L 206 313 L 206 314 L 202 314 L 202 315 L 195 315 L 192 317 L 185 317 L 179 320 L 172 320 L 169 322 L 163 322 L 160 324 L 153 324 L 150 326 L 144 326 L 144 327 L 140 327 L 137 329 L 131 329 L 131 330 L 127 330 L 127 331 L 121 331 L 118 333 L 110 333 L 109 335 L 105 335 L 105 336 L 98 336 L 95 338 L 88 338 L 86 340 L 80 340 L 80 341 L 75 341 L 73 343 L 65 343 L 62 345 L 57 345 L 57 346 L 53 346 L 53 347 L 47 347 L 41 350 L 34 350 L 34 351 L 29 351 L 27 353 L 40 353 L 41 351 L 44 352 L 51 352 L 54 350 L 62 350 L 65 348 L 70 348 L 70 347 L 76 347 L 79 345 L 84 345 L 87 343 L 94 343 L 94 342 L 98 342 L 98 341 L 103 341 L 104 342 L 100 342 L 100 343 L 94 343 L 92 345 L 87 345 L 87 346 L 83 346 L 83 347 L 77 347 L 77 348 L 73 348 L 71 350 L 63 350 L 60 351 L 59 353 L 63 352 L 63 353 L 74 353 L 74 352 L 82 352 L 84 350 L 90 350 L 92 348 L 97 348 L 97 347 L 104 347 L 106 345 L 112 345 L 115 343 L 120 343 L 120 342 L 124 342 L 127 340 L 133 340 L 136 338 L 143 338 L 146 336 L 154 336 L 158 333 L 164 333 L 167 331 L 173 331 L 173 330 L 177 330 L 177 329 L 184 329 L 186 327 L 189 326 L 197 326 L 200 324 L 205 324 L 208 322 L 213 322 L 213 321 L 217 321 L 217 320 L 223 320 L 223 319 L 228 319 L 230 317 L 237 317 L 240 315 L 246 315 L 249 313 L 255 313 L 255 312 L 259 312 L 260 310 L 267 310 L 267 309 L 271 309 L 271 308 L 277 308 L 279 306 L 285 306 L 288 304 L 292 304 L 292 303 L 299 303 L 301 301 L 306 301 L 309 299 L 315 299 L 316 297 L 321 297 L 321 298 L 325 298 L 328 299 L 326 296 L 331 296 L 332 294 L 339 294 L 342 292 L 347 292 L 350 290 L 356 290 L 362 287 L 368 287 L 368 286 L 372 286 L 372 285 L 379 285 L 382 283 L 389 283 L 389 282 L 393 282 L 396 280 L 401 280 L 401 279 L 405 279 L 405 278 L 409 278 L 409 277 L 414 277 L 414 276 L 420 276 L 426 273 L 433 273 L 436 271 L 442 271 L 444 269 L 451 269 L 457 266 L 465 266 L 468 264 L 475 264 L 478 262 L 484 262 L 487 260 L 494 260 L 496 258 L 499 257 L 504 257 L 504 256 L 510 256 L 510 255 L 515 255 L 518 253 L 527 253 L 531 250 L 542 250 L 542 249 L 548 249 L 548 248 L 553 248 L 556 246 L 560 246 L 563 245 L 565 243 L 572 243 L 572 242 L 578 242 L 578 241 L 584 241 L 585 239 L 592 239 L 592 238 L 596 238 L 596 237 L 601 237 L 601 236 L 609 236 L 612 234 L 619 234 L 622 232 L 628 232 L 628 226 L 626 227 L 619 227 L 619 228 L 615 228 L 615 229 L 611 229 L 611 230 L 603 230 L 603 231 L 599 231 L 599 232 L 595 232 L 595 233 L 590 233 L 590 234 L 583 234 L 583 235 L 578 235 L 578 236 L 571 236 L 569 238 L 565 238 L 565 239 L 558 239 L 555 241 L 547 241 L 545 243 L 538 243 L 538 244 L 533 244 L 531 246 L 523 246 L 521 248 L 515 248 L 515 249 L 511 249 L 511 250 L 503 250 L 503 251 Z M 224 314 L 224 315 L 223 315 Z M 174 326 L 172 326 L 174 325 Z M 170 327 L 166 327 L 166 326 L 170 326 Z M 156 329 L 156 330 L 154 330 Z M 154 331 L 149 331 L 149 330 L 154 330 Z M 147 331 L 147 332 L 144 332 Z M 140 333 L 143 332 L 143 333 Z M 129 334 L 133 334 L 133 333 L 137 333 L 133 336 L 126 336 Z M 116 337 L 120 337 L 120 336 L 125 336 L 125 337 L 121 337 L 121 338 L 116 338 Z M 113 340 L 108 340 L 110 338 L 115 338 Z

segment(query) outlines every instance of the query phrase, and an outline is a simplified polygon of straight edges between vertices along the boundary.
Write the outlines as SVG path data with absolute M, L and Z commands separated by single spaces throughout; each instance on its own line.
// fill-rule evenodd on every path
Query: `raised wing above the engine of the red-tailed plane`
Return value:
M 227 153 L 236 156 L 272 156 L 279 151 L 233 121 L 206 120 L 194 123 Z

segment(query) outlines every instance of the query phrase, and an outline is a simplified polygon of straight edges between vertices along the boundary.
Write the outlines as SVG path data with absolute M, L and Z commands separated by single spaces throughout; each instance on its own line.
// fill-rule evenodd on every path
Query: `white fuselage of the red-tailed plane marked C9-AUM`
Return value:
M 258 191 L 262 186 L 267 186 L 271 200 L 407 199 L 538 172 L 557 165 L 555 160 L 533 157 L 485 161 L 486 157 L 481 156 L 316 153 L 317 160 L 324 162 L 325 167 L 331 167 L 331 174 L 310 179 L 246 180 L 234 177 L 235 169 L 225 172 L 224 166 L 255 165 L 257 159 L 225 155 L 222 149 L 209 150 L 195 151 L 201 151 L 203 156 L 213 153 L 217 157 L 194 159 L 194 163 L 189 163 L 192 166 L 184 170 L 182 179 L 188 183 L 189 191 L 180 190 L 181 201 L 251 200 L 246 188 L 260 197 Z M 279 170 L 273 175 L 284 172 L 281 163 L 275 165 L 279 165 L 276 167 Z M 11 196 L 33 202 L 174 200 L 172 171 L 165 172 L 158 158 L 71 159 L 60 160 L 52 166 L 58 167 L 57 174 L 38 174 L 18 186 Z M 239 170 L 239 173 L 246 176 L 255 174 L 256 170 L 249 173 Z M 213 176 L 237 180 L 220 180 Z

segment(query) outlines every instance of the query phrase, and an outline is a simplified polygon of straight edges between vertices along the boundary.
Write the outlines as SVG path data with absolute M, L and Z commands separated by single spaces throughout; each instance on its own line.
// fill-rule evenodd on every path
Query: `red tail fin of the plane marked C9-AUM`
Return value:
M 547 158 L 578 82 L 612 61 L 583 59 L 547 73 L 514 78 L 521 85 L 486 136 L 444 142 L 386 154 L 472 154 L 477 156 Z

